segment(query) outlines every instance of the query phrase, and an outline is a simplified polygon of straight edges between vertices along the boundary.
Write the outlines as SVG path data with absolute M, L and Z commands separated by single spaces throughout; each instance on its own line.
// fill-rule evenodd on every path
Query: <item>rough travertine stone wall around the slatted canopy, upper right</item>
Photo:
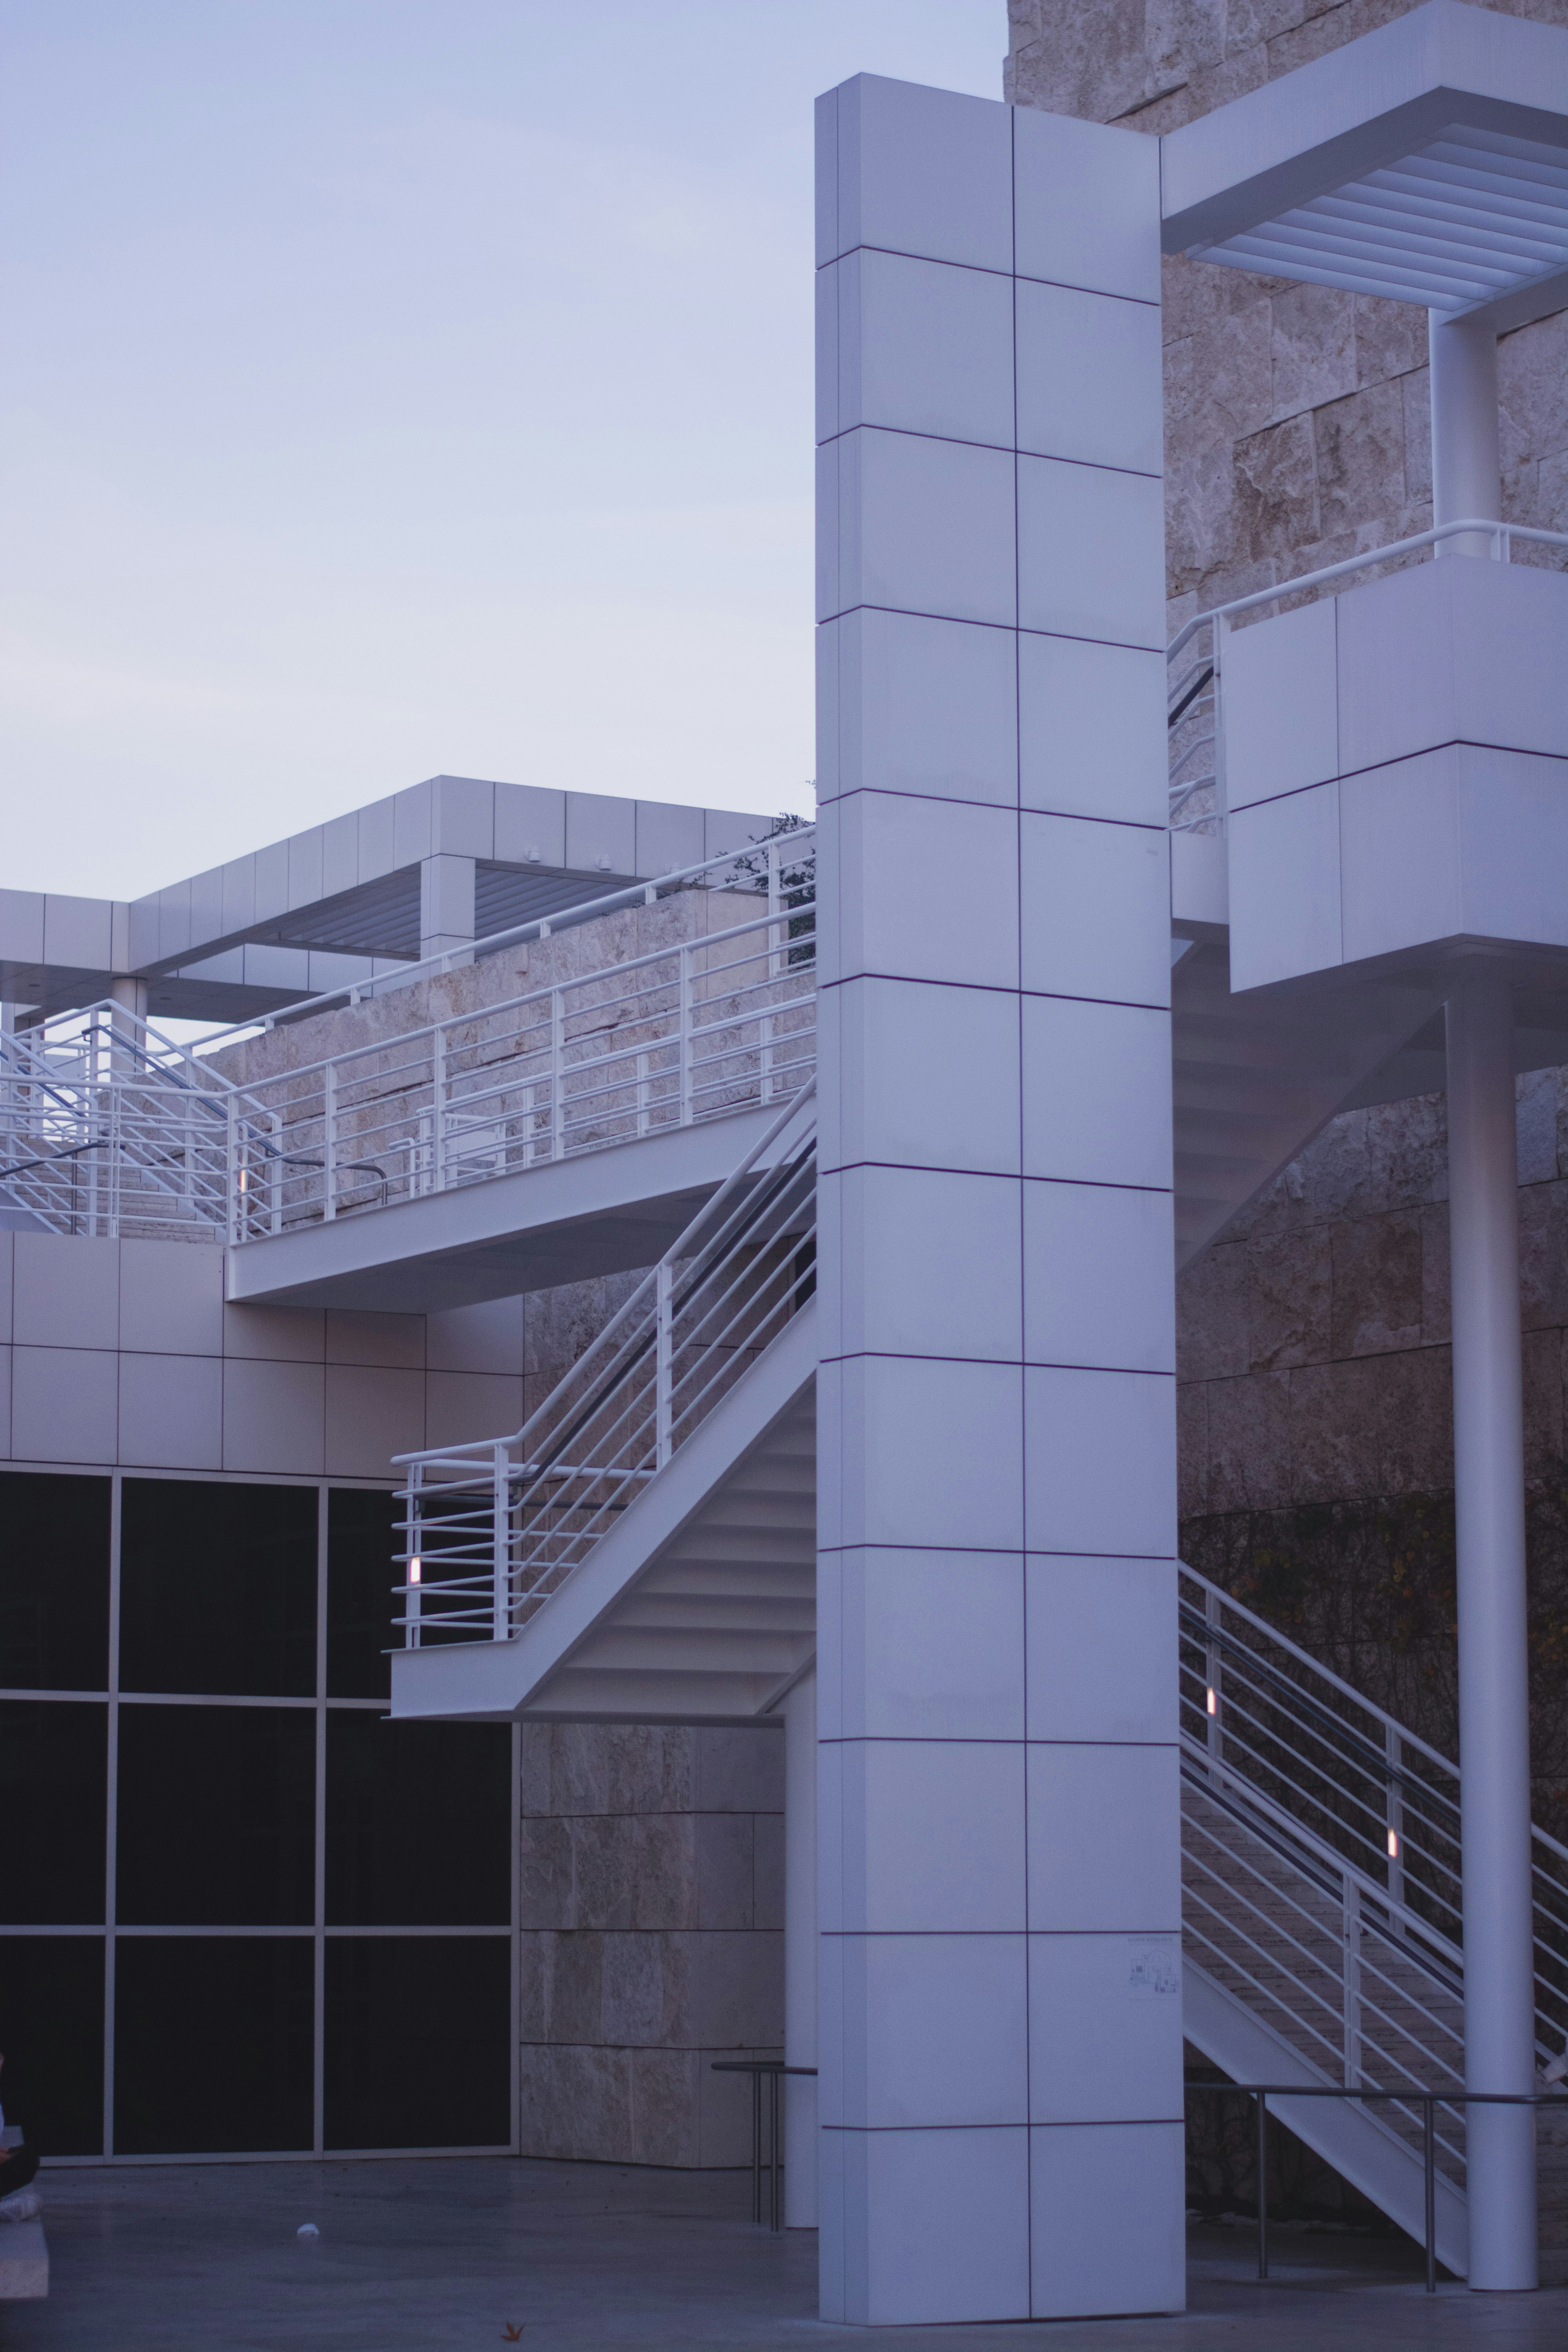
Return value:
M 1418 0 L 1009 0 L 1006 96 L 1166 132 Z M 1568 0 L 1479 0 L 1568 26 Z M 1432 524 L 1427 318 L 1168 259 L 1175 621 Z M 1568 529 L 1568 313 L 1502 339 L 1502 513 Z

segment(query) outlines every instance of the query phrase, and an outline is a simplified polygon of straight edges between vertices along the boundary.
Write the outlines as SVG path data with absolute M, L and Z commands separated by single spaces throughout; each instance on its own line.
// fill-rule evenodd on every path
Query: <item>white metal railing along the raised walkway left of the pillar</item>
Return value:
M 252 1080 L 230 1242 L 788 1101 L 816 1068 L 816 854 L 785 847 L 757 915 Z

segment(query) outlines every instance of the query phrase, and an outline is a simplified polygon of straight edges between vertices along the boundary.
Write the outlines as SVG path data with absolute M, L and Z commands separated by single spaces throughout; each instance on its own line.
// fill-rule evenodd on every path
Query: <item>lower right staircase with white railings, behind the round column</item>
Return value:
M 1465 2079 L 1460 1773 L 1251 1609 L 1180 1573 L 1187 2039 L 1237 2082 Z M 1568 2034 L 1568 1849 L 1535 1830 L 1537 2053 Z M 1279 2098 L 1291 2131 L 1413 2237 L 1415 2100 Z M 1436 2251 L 1465 2272 L 1465 2110 L 1436 2124 Z M 1537 2119 L 1540 2244 L 1568 2258 L 1568 2100 Z M 1554 2263 L 1556 2258 L 1556 2263 Z

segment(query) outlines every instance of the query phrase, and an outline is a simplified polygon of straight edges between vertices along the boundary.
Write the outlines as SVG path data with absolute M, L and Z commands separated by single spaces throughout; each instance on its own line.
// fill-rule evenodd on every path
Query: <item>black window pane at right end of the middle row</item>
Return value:
M 329 1924 L 505 1926 L 510 1780 L 508 1724 L 329 1715 Z

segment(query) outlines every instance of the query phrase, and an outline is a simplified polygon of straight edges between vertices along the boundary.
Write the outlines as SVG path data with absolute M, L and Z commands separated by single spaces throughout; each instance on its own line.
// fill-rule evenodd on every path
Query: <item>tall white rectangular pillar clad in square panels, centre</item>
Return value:
M 1159 148 L 818 108 L 820 2272 L 1182 2305 Z

